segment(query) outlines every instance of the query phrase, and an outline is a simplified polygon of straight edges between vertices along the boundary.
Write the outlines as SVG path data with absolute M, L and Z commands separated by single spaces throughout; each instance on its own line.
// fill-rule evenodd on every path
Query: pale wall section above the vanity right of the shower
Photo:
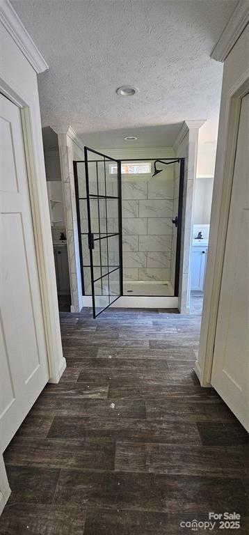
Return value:
M 210 223 L 213 187 L 213 177 L 196 178 L 193 201 L 193 224 L 208 225 Z

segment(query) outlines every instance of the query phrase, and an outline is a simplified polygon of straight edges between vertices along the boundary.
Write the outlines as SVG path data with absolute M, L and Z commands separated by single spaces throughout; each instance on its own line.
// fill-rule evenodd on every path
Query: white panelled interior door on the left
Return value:
M 0 95 L 0 453 L 49 378 L 20 111 Z

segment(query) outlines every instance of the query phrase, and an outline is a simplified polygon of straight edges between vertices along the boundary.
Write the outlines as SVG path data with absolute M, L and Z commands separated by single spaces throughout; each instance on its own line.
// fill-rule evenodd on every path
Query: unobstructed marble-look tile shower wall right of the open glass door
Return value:
M 170 280 L 173 178 L 122 177 L 124 281 Z

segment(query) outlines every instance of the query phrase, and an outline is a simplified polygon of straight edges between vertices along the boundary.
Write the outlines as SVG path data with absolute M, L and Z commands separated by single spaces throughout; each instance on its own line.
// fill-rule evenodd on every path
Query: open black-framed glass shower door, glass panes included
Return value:
M 74 162 L 81 281 L 97 318 L 122 295 L 121 162 L 88 147 L 84 154 Z

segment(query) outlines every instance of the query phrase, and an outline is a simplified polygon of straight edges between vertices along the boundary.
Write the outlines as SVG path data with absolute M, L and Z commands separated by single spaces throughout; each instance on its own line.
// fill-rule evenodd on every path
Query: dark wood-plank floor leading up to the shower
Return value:
M 61 314 L 67 369 L 4 454 L 1 535 L 190 534 L 209 511 L 248 533 L 247 433 L 193 372 L 200 310 Z

